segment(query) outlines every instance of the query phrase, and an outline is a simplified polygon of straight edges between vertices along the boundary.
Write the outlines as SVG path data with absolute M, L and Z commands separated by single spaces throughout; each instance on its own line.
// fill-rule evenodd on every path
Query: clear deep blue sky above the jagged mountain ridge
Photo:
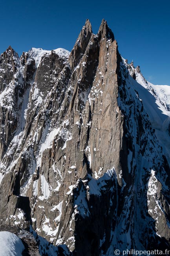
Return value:
M 140 65 L 146 80 L 170 85 L 170 0 L 0 0 L 0 53 L 31 47 L 71 50 L 90 19 L 97 33 L 107 20 L 119 52 Z

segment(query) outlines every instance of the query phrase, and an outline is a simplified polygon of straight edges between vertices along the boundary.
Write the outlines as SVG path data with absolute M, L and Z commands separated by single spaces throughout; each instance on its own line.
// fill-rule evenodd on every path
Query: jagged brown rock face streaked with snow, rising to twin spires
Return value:
M 168 100 L 106 21 L 69 56 L 9 47 L 0 70 L 0 224 L 59 246 L 47 255 L 169 249 Z

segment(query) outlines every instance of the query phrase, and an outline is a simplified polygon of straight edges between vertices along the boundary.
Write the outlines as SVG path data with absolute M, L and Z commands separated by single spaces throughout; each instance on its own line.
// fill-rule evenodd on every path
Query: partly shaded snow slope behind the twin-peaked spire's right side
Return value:
M 135 74 L 135 80 L 131 79 L 130 83 L 133 89 L 139 93 L 139 98 L 142 100 L 144 109 L 149 115 L 159 144 L 163 147 L 170 164 L 170 86 L 154 85 L 147 82 L 137 68 L 135 69 L 133 65 L 128 65 L 125 59 L 123 61 L 128 70 L 130 70 L 130 74 Z

